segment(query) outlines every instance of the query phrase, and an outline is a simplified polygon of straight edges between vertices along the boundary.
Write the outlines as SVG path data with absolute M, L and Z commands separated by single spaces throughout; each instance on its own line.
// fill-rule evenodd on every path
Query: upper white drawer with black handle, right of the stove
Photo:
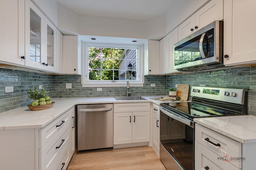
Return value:
M 198 125 L 197 123 L 195 127 L 195 140 L 220 157 L 229 156 L 234 158 L 241 157 L 242 155 L 241 143 Z M 213 143 L 219 144 L 220 146 L 215 146 Z M 230 161 L 230 163 L 238 168 L 242 167 L 241 162 Z

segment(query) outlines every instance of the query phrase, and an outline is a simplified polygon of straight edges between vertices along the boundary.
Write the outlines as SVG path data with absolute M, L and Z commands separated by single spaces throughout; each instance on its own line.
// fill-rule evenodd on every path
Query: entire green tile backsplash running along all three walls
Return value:
M 72 89 L 66 89 L 66 83 L 72 83 Z M 156 84 L 156 87 L 150 87 Z M 145 76 L 143 87 L 131 87 L 132 96 L 167 95 L 168 88 L 175 84 L 190 84 L 190 86 L 220 86 L 247 88 L 248 114 L 256 115 L 256 67 L 230 68 L 204 72 L 174 74 L 170 76 Z M 14 71 L 0 68 L 0 113 L 26 106 L 27 91 L 34 86 L 44 85 L 52 93 L 52 98 L 82 98 L 101 96 L 125 96 L 126 88 L 82 88 L 81 76 L 78 75 L 47 75 L 26 71 Z M 14 86 L 14 92 L 5 93 L 5 86 Z M 191 99 L 191 96 L 190 96 Z

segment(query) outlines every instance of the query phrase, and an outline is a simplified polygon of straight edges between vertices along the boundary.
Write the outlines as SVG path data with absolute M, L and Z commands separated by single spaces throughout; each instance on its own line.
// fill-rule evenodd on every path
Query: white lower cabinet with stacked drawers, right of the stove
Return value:
M 195 169 L 238 170 L 242 168 L 242 145 L 220 133 L 196 124 Z

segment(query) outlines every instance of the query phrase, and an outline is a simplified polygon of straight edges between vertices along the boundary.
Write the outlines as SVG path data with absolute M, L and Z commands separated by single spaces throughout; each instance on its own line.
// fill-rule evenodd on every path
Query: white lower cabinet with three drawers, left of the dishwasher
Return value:
M 1 130 L 0 169 L 65 170 L 74 153 L 72 116 L 74 107 L 41 129 Z

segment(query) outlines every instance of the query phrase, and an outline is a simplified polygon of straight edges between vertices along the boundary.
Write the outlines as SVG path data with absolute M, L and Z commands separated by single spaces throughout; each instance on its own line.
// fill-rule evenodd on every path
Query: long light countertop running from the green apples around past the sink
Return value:
M 159 96 L 143 96 L 146 99 Z M 108 104 L 108 103 L 138 103 L 153 102 L 160 104 L 159 100 L 115 100 L 114 97 L 98 98 L 52 98 L 54 106 L 49 109 L 31 111 L 27 106 L 0 113 L 0 130 L 42 128 L 62 115 L 68 109 L 78 104 Z

